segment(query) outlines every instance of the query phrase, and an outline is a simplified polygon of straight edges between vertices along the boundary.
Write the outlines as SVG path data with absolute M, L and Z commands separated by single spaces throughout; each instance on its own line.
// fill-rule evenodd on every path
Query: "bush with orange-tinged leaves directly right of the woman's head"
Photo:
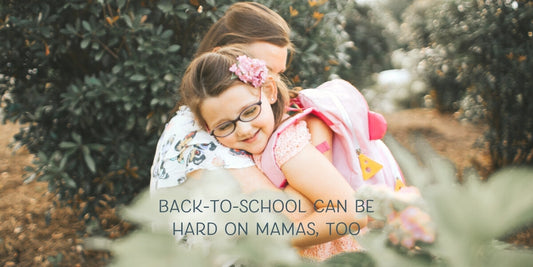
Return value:
M 287 77 L 297 86 L 316 87 L 346 66 L 342 44 L 348 36 L 342 27 L 345 1 L 258 1 L 271 6 L 291 27 L 296 48 Z

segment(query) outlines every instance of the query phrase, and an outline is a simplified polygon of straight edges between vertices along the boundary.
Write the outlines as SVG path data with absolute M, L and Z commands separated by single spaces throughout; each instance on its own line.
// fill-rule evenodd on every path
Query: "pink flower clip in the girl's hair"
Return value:
M 255 88 L 261 86 L 267 78 L 268 68 L 263 60 L 242 55 L 237 57 L 237 63 L 229 68 L 239 80 Z

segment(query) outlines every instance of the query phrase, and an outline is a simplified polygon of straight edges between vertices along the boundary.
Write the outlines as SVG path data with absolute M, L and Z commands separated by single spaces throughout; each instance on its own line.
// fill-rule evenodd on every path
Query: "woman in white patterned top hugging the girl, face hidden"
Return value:
M 290 29 L 277 13 L 263 5 L 241 2 L 232 5 L 225 15 L 207 32 L 199 45 L 197 55 L 222 46 L 240 44 L 253 57 L 264 60 L 273 73 L 286 68 L 288 52 L 292 49 Z M 200 177 L 205 170 L 224 168 L 235 177 L 243 191 L 275 187 L 242 151 L 220 145 L 214 137 L 195 123 L 191 111 L 177 105 L 157 145 L 152 165 L 150 188 L 152 192 L 177 186 L 188 178 Z M 311 210 L 312 204 L 287 186 L 284 192 L 293 199 L 302 200 L 302 209 Z M 302 214 L 287 214 L 291 220 Z M 323 260 L 343 251 L 355 251 L 351 246 L 339 250 L 332 242 L 300 250 L 302 255 Z

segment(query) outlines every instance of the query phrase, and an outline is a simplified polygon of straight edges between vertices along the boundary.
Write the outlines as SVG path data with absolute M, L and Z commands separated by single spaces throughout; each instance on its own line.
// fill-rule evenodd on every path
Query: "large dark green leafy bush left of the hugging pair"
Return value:
M 38 179 L 82 216 L 129 201 L 148 185 L 180 73 L 221 12 L 168 1 L 1 6 L 5 119 L 27 125 L 16 139 L 37 155 Z

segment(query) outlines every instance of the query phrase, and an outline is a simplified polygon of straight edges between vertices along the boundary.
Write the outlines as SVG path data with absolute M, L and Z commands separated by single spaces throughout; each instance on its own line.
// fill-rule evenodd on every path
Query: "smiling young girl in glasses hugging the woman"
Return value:
M 251 153 L 258 162 L 274 129 L 288 117 L 289 96 L 278 75 L 269 74 L 263 61 L 245 54 L 237 47 L 225 47 L 199 56 L 185 72 L 180 91 L 207 132 L 227 147 Z M 293 244 L 306 247 L 335 240 L 339 252 L 353 251 L 357 249 L 353 237 L 340 238 L 335 225 L 364 227 L 366 218 L 356 214 L 353 189 L 312 144 L 331 142 L 331 136 L 320 119 L 305 117 L 281 134 L 276 160 L 288 184 L 314 205 L 298 223 L 313 223 L 318 236 L 296 236 Z

